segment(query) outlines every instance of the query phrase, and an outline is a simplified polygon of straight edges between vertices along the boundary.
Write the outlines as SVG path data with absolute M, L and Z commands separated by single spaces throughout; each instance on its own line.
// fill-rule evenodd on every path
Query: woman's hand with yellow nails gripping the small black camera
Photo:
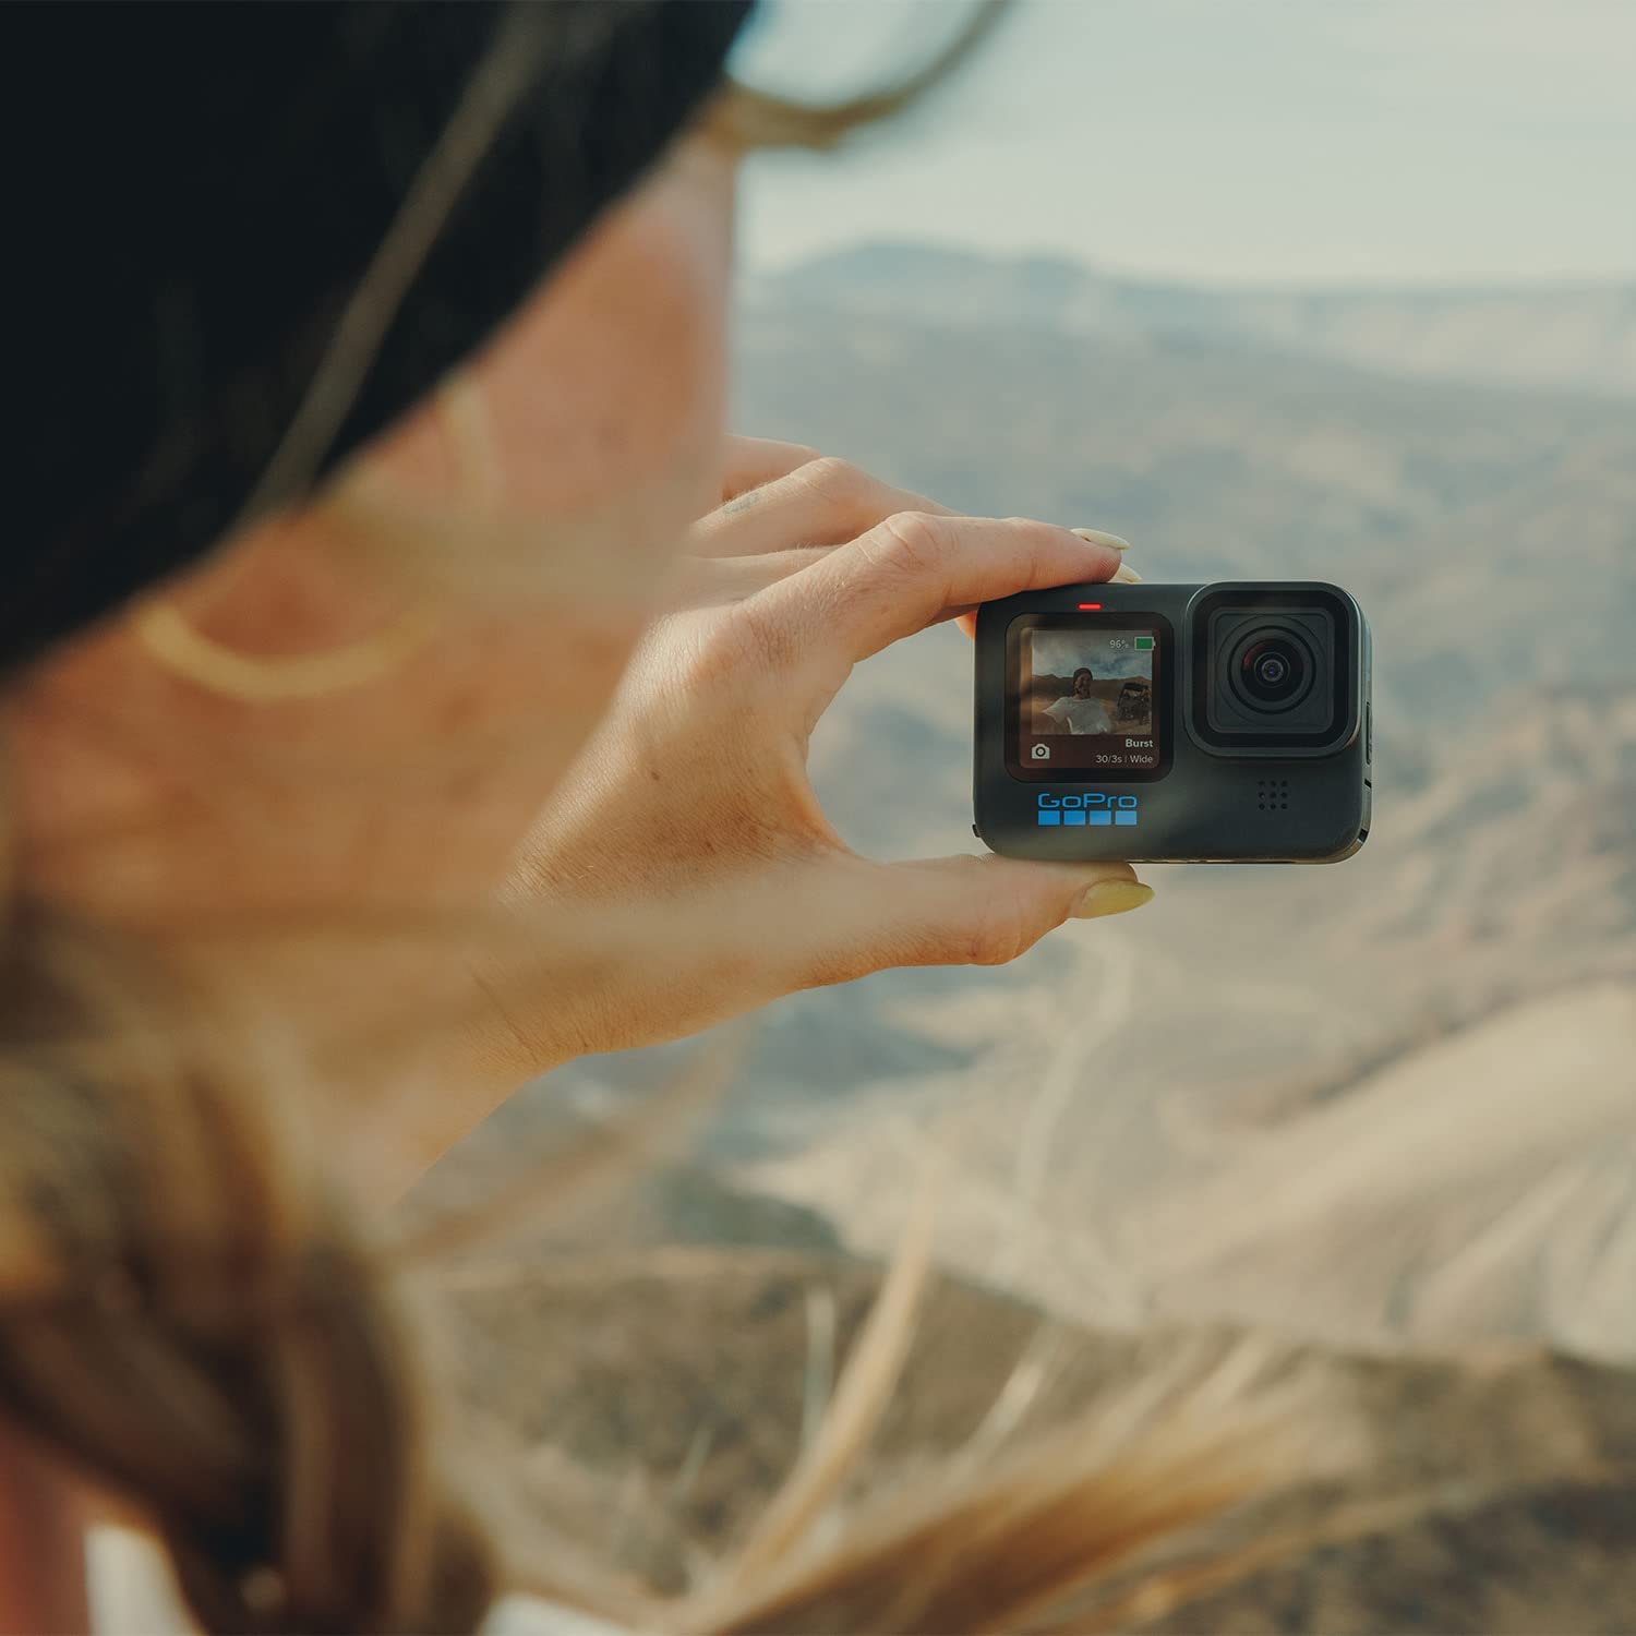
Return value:
M 1070 916 L 1152 895 L 1124 864 L 872 862 L 807 772 L 811 730 L 861 659 L 991 597 L 1109 579 L 1117 550 L 733 440 L 723 504 L 689 553 L 679 605 L 512 882 L 561 951 L 483 973 L 515 1078 L 883 967 L 1001 964 Z

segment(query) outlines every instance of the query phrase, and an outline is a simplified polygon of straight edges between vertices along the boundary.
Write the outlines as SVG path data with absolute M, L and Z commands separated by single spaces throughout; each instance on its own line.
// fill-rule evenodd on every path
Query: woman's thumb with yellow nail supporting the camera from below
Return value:
M 843 946 L 821 982 L 895 965 L 1003 965 L 1063 921 L 1122 915 L 1153 897 L 1129 864 L 962 856 L 844 867 L 852 879 L 826 888 L 831 905 L 846 905 Z

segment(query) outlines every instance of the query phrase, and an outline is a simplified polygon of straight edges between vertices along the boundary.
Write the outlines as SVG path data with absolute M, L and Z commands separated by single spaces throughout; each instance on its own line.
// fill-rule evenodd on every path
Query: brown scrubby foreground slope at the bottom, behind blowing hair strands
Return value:
M 875 1289 L 870 1268 L 833 1256 L 672 1250 L 573 1268 L 494 1260 L 448 1294 L 479 1435 L 543 1451 L 522 1467 L 537 1521 L 674 1593 L 731 1551 L 789 1474 L 813 1381 L 823 1391 L 844 1366 Z M 959 1492 L 1006 1451 L 1093 1436 L 1122 1389 L 1178 1364 L 1180 1381 L 1198 1379 L 1237 1343 L 1220 1328 L 1085 1330 L 939 1279 L 847 1494 L 928 1481 Z M 1296 1348 L 1268 1368 L 1302 1382 L 1301 1436 L 1324 1446 L 1348 1427 L 1346 1461 L 1252 1484 L 1238 1508 L 1126 1564 L 1088 1615 L 1116 1608 L 1119 1628 L 1165 1631 L 1631 1629 L 1636 1392 L 1623 1371 L 1543 1348 Z M 1024 1376 L 1032 1389 L 1008 1394 Z M 1021 1409 L 996 1438 L 996 1404 L 1011 1400 Z M 939 1479 L 962 1451 L 960 1474 Z M 1279 1539 L 1253 1571 L 1163 1613 L 1130 1600 L 1160 1575 L 1211 1574 Z

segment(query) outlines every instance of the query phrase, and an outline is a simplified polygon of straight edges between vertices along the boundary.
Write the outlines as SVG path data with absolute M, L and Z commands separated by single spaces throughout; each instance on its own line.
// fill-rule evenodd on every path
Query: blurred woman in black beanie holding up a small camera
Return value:
M 738 152 L 915 90 L 721 97 L 746 10 L 7 13 L 3 1628 L 83 1625 L 88 1505 L 213 1628 L 470 1628 L 368 1204 L 581 1052 L 1150 895 L 813 797 L 854 663 L 1121 542 L 723 438 Z

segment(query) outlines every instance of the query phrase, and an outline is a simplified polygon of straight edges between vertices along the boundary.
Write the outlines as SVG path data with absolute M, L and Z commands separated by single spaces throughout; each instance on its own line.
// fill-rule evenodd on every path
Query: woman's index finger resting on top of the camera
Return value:
M 1119 551 L 1022 517 L 900 512 L 769 587 L 759 615 L 784 635 L 867 659 L 980 602 L 1119 571 Z

